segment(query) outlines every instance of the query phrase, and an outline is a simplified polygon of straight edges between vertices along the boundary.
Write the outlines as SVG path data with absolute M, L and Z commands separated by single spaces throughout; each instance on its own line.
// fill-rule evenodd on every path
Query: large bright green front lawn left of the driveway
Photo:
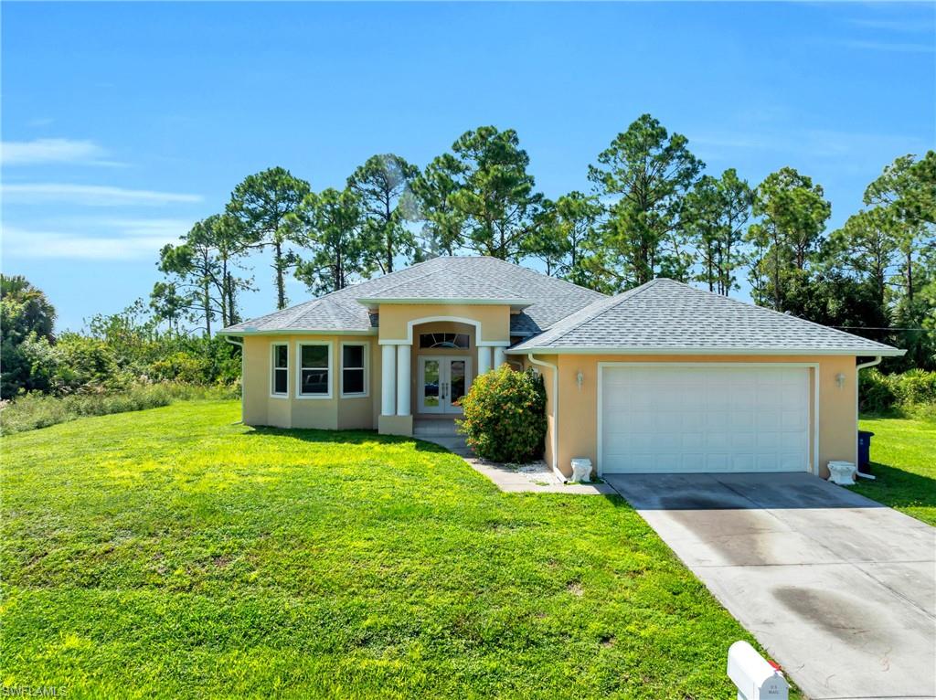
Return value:
M 4 686 L 69 697 L 734 697 L 753 642 L 620 498 L 233 401 L 0 441 Z

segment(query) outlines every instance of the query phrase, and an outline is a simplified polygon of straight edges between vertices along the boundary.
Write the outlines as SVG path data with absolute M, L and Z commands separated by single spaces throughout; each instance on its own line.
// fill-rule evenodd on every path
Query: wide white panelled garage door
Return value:
M 809 398 L 804 367 L 604 367 L 602 471 L 807 471 Z

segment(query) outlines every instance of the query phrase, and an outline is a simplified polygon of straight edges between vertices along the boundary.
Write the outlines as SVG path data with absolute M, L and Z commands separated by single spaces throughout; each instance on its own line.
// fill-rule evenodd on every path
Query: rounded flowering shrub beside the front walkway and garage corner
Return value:
M 546 387 L 538 374 L 502 365 L 475 379 L 461 408 L 460 430 L 478 457 L 525 462 L 542 456 Z

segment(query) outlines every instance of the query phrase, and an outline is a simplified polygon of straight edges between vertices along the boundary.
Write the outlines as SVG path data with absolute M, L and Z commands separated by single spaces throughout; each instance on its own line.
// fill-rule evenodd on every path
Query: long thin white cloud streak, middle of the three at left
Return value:
M 11 204 L 48 204 L 50 202 L 80 204 L 89 207 L 119 207 L 124 205 L 188 204 L 200 202 L 201 195 L 185 195 L 154 190 L 131 190 L 95 184 L 64 184 L 34 182 L 5 184 L 0 188 Z

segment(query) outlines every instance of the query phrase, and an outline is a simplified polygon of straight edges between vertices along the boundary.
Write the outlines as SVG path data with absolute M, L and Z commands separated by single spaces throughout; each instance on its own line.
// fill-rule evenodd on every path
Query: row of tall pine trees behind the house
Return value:
M 549 199 L 529 165 L 514 130 L 481 126 L 425 168 L 373 155 L 343 189 L 314 192 L 285 168 L 250 175 L 160 252 L 154 314 L 209 335 L 238 322 L 257 251 L 270 254 L 277 309 L 290 274 L 321 295 L 434 255 L 491 255 L 607 293 L 663 276 L 729 295 L 744 281 L 757 304 L 908 348 L 895 369 L 936 367 L 932 151 L 886 166 L 832 231 L 808 175 L 708 173 L 649 114 L 596 156 L 588 192 Z

